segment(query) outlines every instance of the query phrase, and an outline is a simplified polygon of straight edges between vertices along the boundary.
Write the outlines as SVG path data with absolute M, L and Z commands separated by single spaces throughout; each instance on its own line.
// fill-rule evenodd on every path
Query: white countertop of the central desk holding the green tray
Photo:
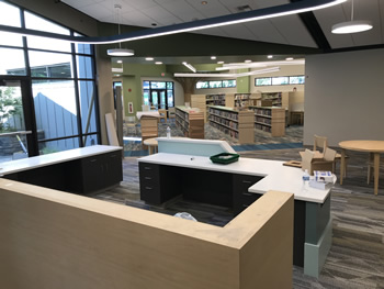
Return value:
M 253 186 L 249 192 L 264 193 L 269 190 L 292 192 L 295 200 L 324 203 L 330 189 L 320 190 L 304 188 L 303 170 L 295 167 L 283 166 L 284 162 L 245 158 L 228 165 L 214 164 L 208 157 L 159 153 L 142 157 L 138 162 L 159 165 L 179 166 L 187 168 L 215 170 L 230 174 L 244 174 L 264 177 Z

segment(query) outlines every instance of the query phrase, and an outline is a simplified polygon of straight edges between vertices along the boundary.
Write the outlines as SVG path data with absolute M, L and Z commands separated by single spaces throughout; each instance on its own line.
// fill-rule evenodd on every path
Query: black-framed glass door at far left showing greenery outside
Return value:
M 0 163 L 29 157 L 22 86 L 0 79 Z

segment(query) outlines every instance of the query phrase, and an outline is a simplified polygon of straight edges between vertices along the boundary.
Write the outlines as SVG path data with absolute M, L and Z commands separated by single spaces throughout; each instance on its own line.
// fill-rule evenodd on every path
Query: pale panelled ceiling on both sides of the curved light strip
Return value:
M 294 1 L 297 0 L 61 0 L 101 22 L 120 22 L 145 29 Z M 206 3 L 203 4 L 204 2 Z M 121 9 L 115 9 L 115 4 L 120 4 Z M 324 51 L 384 45 L 384 0 L 354 0 L 354 20 L 372 21 L 371 31 L 347 35 L 330 33 L 334 24 L 351 20 L 351 7 L 352 0 L 349 0 L 315 12 L 201 30 L 195 33 Z

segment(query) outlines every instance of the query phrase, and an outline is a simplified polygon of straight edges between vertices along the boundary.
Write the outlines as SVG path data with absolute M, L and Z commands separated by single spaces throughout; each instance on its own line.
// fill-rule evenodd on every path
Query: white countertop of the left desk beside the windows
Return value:
M 121 146 L 93 145 L 93 146 L 63 151 L 63 152 L 47 154 L 47 155 L 4 162 L 4 163 L 0 163 L 0 176 L 23 171 L 27 169 L 49 166 L 54 164 L 59 164 L 64 162 L 69 162 L 74 159 L 79 159 L 83 157 L 100 155 L 103 153 L 110 153 L 110 152 L 120 151 L 120 149 L 122 149 Z

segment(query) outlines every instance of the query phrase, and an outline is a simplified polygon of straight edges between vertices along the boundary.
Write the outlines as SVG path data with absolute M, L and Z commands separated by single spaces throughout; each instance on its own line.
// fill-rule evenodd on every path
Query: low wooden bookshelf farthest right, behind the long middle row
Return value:
M 249 107 L 255 111 L 255 129 L 271 133 L 272 136 L 285 134 L 285 109 L 276 107 Z

